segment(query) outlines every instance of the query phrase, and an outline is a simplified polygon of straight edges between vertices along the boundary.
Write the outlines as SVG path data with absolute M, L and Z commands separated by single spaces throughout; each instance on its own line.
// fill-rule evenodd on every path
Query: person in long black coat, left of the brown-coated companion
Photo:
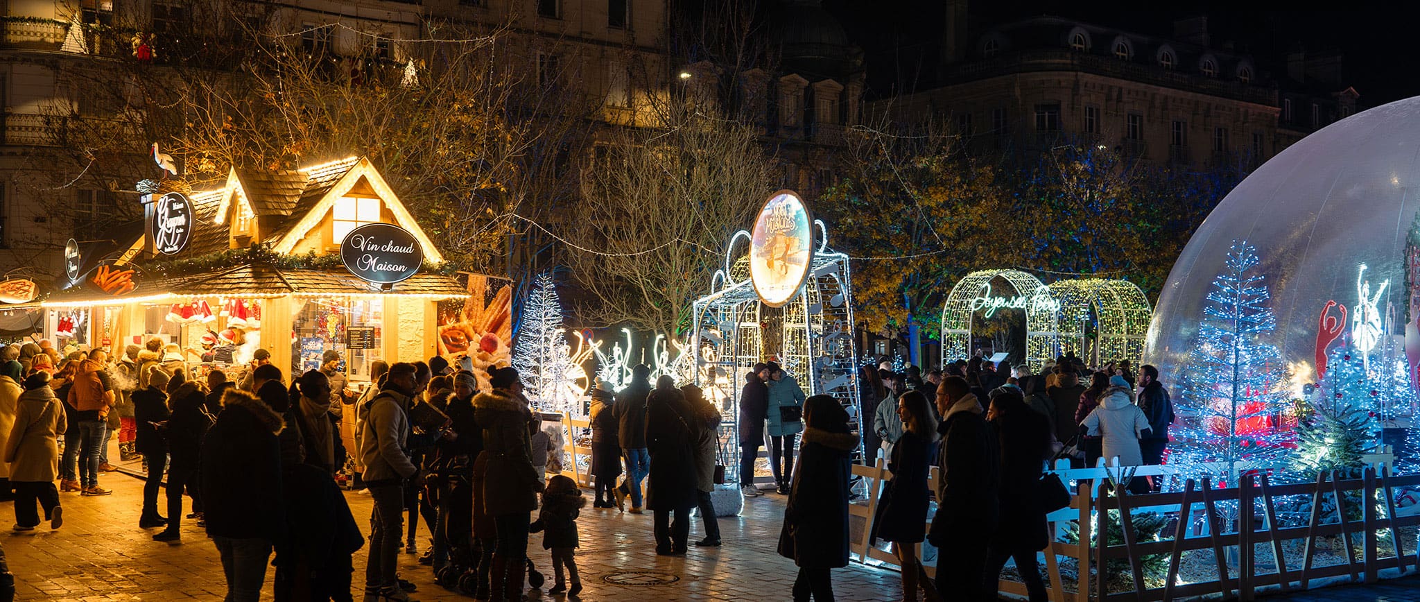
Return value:
M 686 395 L 676 389 L 676 379 L 666 375 L 656 379 L 656 390 L 646 396 L 646 449 L 650 452 L 646 507 L 656 514 L 656 554 L 663 557 L 686 552 L 690 508 L 700 501 L 692 420 L 693 412 Z

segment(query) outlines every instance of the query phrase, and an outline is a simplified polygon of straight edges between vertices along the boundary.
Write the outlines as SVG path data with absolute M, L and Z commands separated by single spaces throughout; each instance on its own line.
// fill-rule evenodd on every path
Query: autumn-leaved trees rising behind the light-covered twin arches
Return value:
M 1244 176 L 1093 145 L 1022 162 L 961 142 L 940 124 L 855 128 L 842 179 L 814 203 L 834 246 L 855 257 L 855 314 L 869 332 L 937 338 L 946 295 L 974 270 L 1100 274 L 1156 298 L 1189 236 Z

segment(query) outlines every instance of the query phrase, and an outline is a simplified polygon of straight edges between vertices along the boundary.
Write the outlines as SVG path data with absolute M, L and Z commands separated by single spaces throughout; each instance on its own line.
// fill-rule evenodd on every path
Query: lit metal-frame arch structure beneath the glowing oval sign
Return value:
M 778 195 L 778 193 L 777 193 Z M 751 277 L 753 236 L 737 231 L 726 246 L 724 267 L 710 283 L 711 292 L 692 305 L 694 354 L 690 379 L 727 417 L 720 440 L 740 449 L 738 409 L 744 375 L 765 352 L 777 354 L 784 371 L 798 378 L 807 395 L 832 395 L 848 410 L 855 432 L 862 416 L 858 399 L 858 355 L 853 348 L 853 292 L 848 256 L 828 247 L 822 221 L 812 220 L 808 270 L 799 288 L 782 308 L 782 348 L 764 348 L 763 308 L 767 307 Z M 741 243 L 743 240 L 743 243 Z M 689 363 L 689 362 L 687 362 Z M 859 453 L 862 450 L 859 449 Z M 859 456 L 861 457 L 861 456 Z M 855 459 L 856 461 L 856 459 Z M 737 463 L 727 463 L 726 480 L 738 478 Z

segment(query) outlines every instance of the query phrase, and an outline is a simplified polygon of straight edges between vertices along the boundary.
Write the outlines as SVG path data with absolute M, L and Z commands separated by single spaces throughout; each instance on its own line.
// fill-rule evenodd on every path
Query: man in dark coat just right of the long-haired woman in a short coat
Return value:
M 941 379 L 943 422 L 937 466 L 937 514 L 927 540 L 937 547 L 937 591 L 983 599 L 987 544 L 997 524 L 998 447 L 985 409 L 960 376 Z

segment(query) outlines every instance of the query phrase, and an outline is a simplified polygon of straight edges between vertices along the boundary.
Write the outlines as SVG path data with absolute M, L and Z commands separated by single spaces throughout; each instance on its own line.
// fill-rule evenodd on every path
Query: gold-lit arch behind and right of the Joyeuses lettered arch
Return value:
M 1127 359 L 1139 369 L 1153 318 L 1145 291 L 1127 280 L 1105 278 L 1062 280 L 1051 283 L 1049 290 L 1061 302 L 1061 354 L 1085 356 L 1085 325 L 1093 305 L 1099 319 L 1095 363 Z

